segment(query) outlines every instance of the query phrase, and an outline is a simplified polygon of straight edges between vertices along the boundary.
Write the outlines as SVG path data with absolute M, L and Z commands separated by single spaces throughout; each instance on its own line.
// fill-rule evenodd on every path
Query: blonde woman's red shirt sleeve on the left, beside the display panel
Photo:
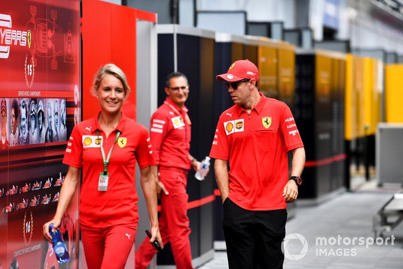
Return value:
M 63 164 L 75 168 L 81 168 L 83 166 L 83 142 L 81 141 L 79 127 L 77 125 L 73 128 L 72 135 L 67 142 Z

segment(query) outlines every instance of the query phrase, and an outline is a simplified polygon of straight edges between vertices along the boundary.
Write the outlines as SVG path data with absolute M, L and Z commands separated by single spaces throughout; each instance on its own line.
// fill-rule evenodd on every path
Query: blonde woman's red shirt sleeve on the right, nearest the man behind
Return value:
M 136 147 L 136 159 L 140 168 L 155 165 L 153 158 L 153 148 L 150 142 L 150 136 L 146 127 L 141 126 L 139 132 L 138 144 Z

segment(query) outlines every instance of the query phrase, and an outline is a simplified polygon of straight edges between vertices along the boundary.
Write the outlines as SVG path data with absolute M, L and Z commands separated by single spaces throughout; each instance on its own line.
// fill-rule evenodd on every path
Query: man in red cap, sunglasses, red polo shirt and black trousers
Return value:
M 216 78 L 226 81 L 235 103 L 221 114 L 210 152 L 223 200 L 229 267 L 283 268 L 286 207 L 298 196 L 304 145 L 289 107 L 258 91 L 252 62 L 236 61 Z

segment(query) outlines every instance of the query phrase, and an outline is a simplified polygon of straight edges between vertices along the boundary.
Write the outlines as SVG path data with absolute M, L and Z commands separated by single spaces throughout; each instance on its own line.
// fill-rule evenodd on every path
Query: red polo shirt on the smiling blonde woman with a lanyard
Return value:
M 104 171 L 104 164 L 96 130 L 99 130 L 106 156 L 115 141 L 117 131 L 121 132 L 108 165 L 107 191 L 98 191 L 99 175 Z M 139 214 L 135 165 L 136 161 L 140 168 L 155 165 L 151 154 L 147 129 L 123 114 L 109 137 L 101 130 L 98 116 L 77 124 L 69 139 L 63 163 L 83 168 L 80 223 L 97 228 L 137 223 Z

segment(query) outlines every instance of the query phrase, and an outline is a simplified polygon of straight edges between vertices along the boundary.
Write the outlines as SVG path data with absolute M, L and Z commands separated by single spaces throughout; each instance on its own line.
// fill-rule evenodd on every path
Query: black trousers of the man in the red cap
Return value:
M 287 210 L 246 210 L 229 198 L 223 206 L 229 268 L 283 268 Z

